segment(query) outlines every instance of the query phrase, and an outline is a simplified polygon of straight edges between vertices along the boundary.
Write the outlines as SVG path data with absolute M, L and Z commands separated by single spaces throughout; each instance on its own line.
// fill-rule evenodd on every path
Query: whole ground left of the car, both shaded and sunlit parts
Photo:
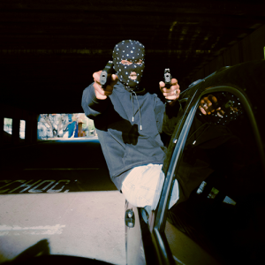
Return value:
M 96 140 L 7 148 L 2 162 L 0 263 L 25 251 L 126 263 L 125 198 Z

